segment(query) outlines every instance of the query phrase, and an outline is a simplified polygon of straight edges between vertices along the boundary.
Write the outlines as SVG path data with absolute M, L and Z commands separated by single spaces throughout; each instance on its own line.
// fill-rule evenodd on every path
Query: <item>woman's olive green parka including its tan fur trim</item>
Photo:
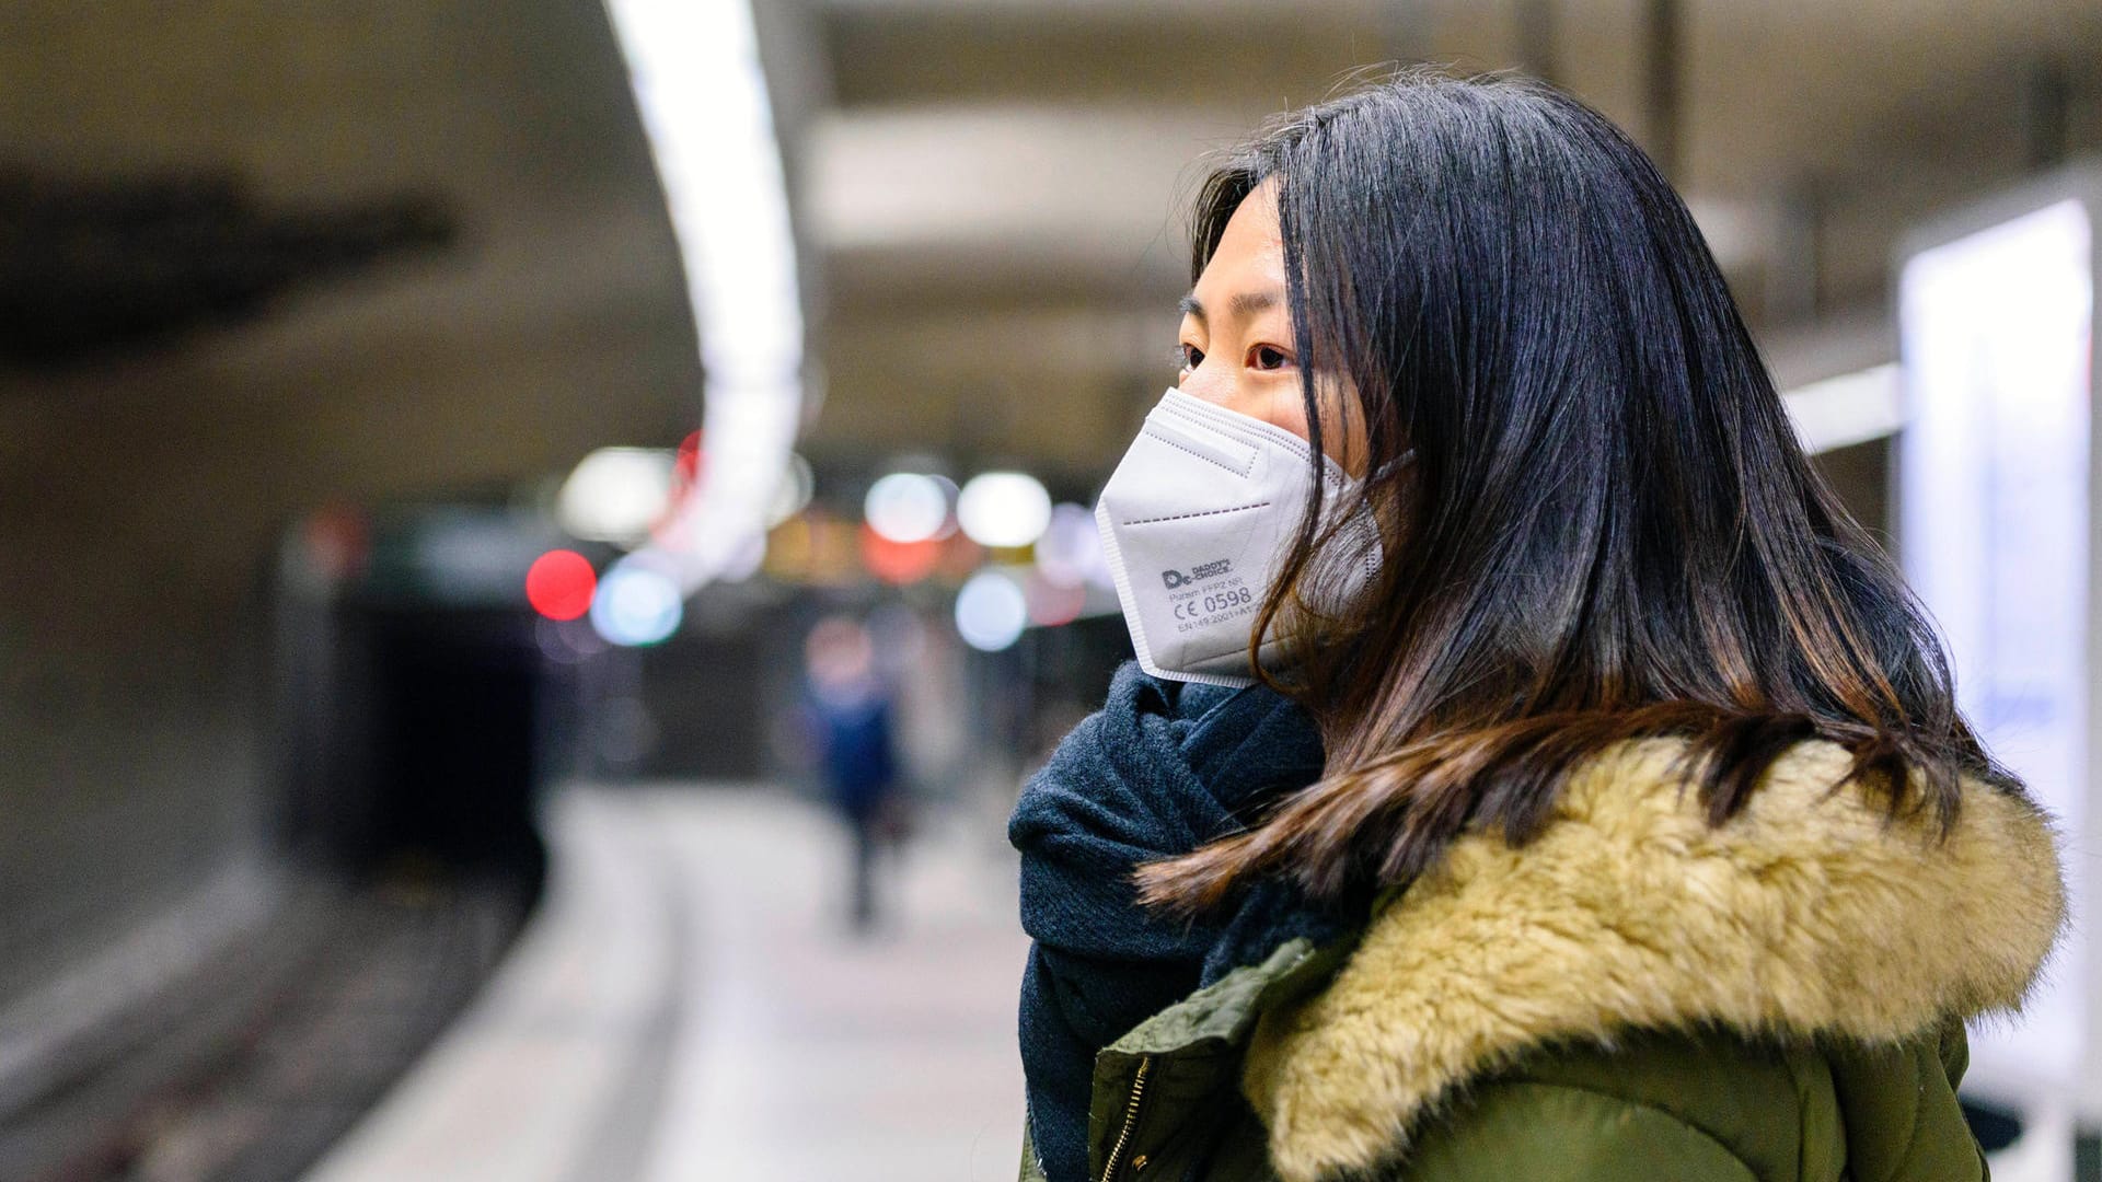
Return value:
M 2064 921 L 2047 820 L 1965 782 L 1940 839 L 1804 742 L 1709 827 L 1682 751 L 1595 759 L 1537 841 L 1469 835 L 1354 938 L 1131 1031 L 1093 1178 L 1984 1178 L 1963 1020 L 2018 1005 Z

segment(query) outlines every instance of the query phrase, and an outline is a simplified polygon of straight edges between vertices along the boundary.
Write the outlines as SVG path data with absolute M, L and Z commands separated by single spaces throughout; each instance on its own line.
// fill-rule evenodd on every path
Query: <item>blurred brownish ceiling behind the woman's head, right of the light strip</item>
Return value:
M 1173 381 L 1204 156 L 1354 67 L 1534 59 L 1652 149 L 1661 130 L 1652 0 L 795 6 L 822 95 L 788 128 L 826 297 L 809 446 L 877 463 L 1104 475 Z M 1911 219 L 2102 145 L 2096 0 L 1675 11 L 1673 172 L 1782 351 L 1879 322 Z

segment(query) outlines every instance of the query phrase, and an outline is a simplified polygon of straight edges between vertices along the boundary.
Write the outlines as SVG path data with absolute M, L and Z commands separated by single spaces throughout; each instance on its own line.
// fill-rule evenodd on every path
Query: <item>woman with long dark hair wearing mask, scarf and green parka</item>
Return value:
M 1406 74 L 1192 273 L 1097 513 L 1141 667 L 1011 827 L 1024 1176 L 1982 1178 L 2049 827 L 1656 168 Z

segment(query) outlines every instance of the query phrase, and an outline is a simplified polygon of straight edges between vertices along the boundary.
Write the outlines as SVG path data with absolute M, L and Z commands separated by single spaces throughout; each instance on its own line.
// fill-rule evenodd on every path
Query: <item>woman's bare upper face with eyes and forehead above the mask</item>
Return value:
M 1196 288 L 1181 301 L 1175 385 L 1251 419 L 1310 437 L 1299 393 L 1299 349 L 1284 307 L 1284 238 L 1278 229 L 1276 181 L 1263 181 L 1219 236 Z M 1335 391 L 1322 398 L 1322 450 L 1343 471 L 1364 475 L 1364 423 L 1341 414 Z

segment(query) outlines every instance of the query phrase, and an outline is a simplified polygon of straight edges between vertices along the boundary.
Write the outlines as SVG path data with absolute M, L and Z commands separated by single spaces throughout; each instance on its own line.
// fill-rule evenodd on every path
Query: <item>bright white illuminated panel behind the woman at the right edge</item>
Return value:
M 1902 263 L 1898 541 L 1965 715 L 2062 822 L 2079 919 L 2094 883 L 2096 240 L 2094 206 L 2066 191 L 1963 219 Z M 2091 997 L 2077 923 L 2024 1016 L 1972 1033 L 1974 1083 L 2024 1106 L 2077 1096 L 2096 1075 Z

